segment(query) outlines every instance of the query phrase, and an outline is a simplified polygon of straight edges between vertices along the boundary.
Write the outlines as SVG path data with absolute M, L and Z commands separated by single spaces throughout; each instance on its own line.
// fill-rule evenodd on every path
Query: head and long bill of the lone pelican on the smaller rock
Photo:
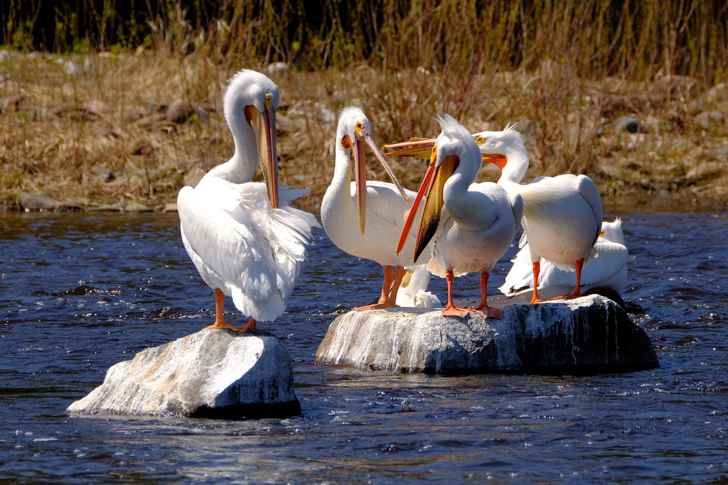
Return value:
M 252 172 L 259 164 L 268 187 L 271 205 L 278 207 L 278 158 L 275 143 L 275 112 L 280 94 L 278 87 L 264 74 L 243 69 L 228 84 L 223 98 L 225 121 L 235 140 L 236 156 L 256 138 L 258 160 L 248 160 Z M 253 133 L 250 133 L 252 128 Z M 252 177 L 252 173 L 250 174 Z

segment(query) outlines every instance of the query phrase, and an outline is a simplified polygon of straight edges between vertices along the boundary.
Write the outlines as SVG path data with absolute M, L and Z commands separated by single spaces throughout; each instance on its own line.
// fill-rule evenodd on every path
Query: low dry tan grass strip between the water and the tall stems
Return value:
M 55 57 L 19 52 L 0 64 L 0 75 L 7 78 L 0 83 L 4 207 L 17 207 L 23 192 L 84 207 L 124 207 L 131 201 L 155 207 L 175 201 L 186 175 L 232 155 L 221 99 L 226 79 L 240 67 L 236 63 L 216 65 L 202 53 L 168 52 L 63 60 L 73 60 L 81 71 L 69 75 Z M 568 63 L 553 61 L 531 71 L 484 73 L 358 64 L 328 71 L 290 69 L 272 79 L 282 95 L 282 183 L 311 188 L 300 203 L 315 213 L 333 171 L 332 115 L 347 105 L 364 108 L 380 145 L 437 135 L 432 120 L 437 113 L 459 115 L 472 131 L 518 123 L 531 155 L 529 177 L 585 173 L 598 183 L 608 205 L 709 207 L 728 201 L 727 122 L 703 127 L 698 121 L 700 113 L 728 113 L 723 85 L 705 90 L 675 78 L 670 94 L 655 83 L 585 80 Z M 111 113 L 88 111 L 92 100 L 108 104 Z M 193 116 L 179 124 L 150 116 L 150 103 L 173 100 L 203 108 L 209 119 Z M 614 129 L 614 119 L 632 112 L 646 132 Z M 95 135 L 100 127 L 113 135 Z M 135 141 L 153 150 L 132 154 L 126 145 Z M 92 173 L 97 166 L 111 169 L 116 178 L 101 180 Z M 374 164 L 370 167 L 373 177 L 381 175 Z M 403 159 L 395 163 L 395 172 L 416 188 L 424 167 Z M 495 177 L 492 169 L 483 169 L 483 179 Z

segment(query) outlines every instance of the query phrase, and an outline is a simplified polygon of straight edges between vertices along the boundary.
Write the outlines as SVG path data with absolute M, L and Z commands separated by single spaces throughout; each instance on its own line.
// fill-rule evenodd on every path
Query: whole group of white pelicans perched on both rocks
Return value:
M 235 74 L 223 98 L 235 153 L 207 172 L 195 188 L 182 188 L 178 196 L 185 249 L 215 294 L 215 322 L 207 328 L 245 332 L 256 328 L 256 321 L 280 316 L 306 261 L 312 228 L 320 227 L 313 215 L 289 204 L 305 191 L 277 183 L 279 96 L 277 86 L 264 74 L 249 70 Z M 621 289 L 627 250 L 620 221 L 603 224 L 601 197 L 589 177 L 558 175 L 522 184 L 529 159 L 515 129 L 471 135 L 451 116 L 440 115 L 437 121 L 441 132 L 436 139 L 385 145 L 393 150 L 388 156 L 429 159 L 422 186 L 414 193 L 403 188 L 389 168 L 363 111 L 353 107 L 341 111 L 336 164 L 321 204 L 321 223 L 339 249 L 384 268 L 379 301 L 355 310 L 398 306 L 397 292 L 405 268 L 410 268 L 411 286 L 420 278 L 421 290 L 426 289 L 430 273 L 446 278 L 443 315 L 462 317 L 475 311 L 484 318 L 501 318 L 498 308 L 488 306 L 488 274 L 521 227 L 522 249 L 502 291 L 531 286 L 531 303 L 541 302 L 539 288 L 562 284 L 558 278 L 569 281 L 569 271 L 573 284 L 574 270 L 574 291 L 563 297 L 578 297 L 587 282 Z M 367 147 L 392 183 L 366 180 Z M 352 158 L 355 182 L 351 182 Z M 259 161 L 265 183 L 251 181 Z M 498 183 L 475 183 L 483 162 L 500 167 Z M 416 220 L 419 226 L 413 231 Z M 586 281 L 591 268 L 593 274 Z M 454 277 L 474 272 L 480 272 L 480 304 L 458 308 L 453 301 Z M 250 316 L 247 325 L 231 326 L 223 320 L 225 295 Z

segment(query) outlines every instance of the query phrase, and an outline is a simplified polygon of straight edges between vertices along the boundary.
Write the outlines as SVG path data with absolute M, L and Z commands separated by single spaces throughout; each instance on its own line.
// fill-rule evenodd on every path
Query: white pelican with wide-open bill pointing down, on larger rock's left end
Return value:
M 387 170 L 394 184 L 366 180 L 366 145 Z M 352 164 L 349 150 L 354 153 L 355 182 L 350 182 Z M 355 310 L 397 306 L 397 290 L 404 275 L 403 266 L 412 265 L 412 258 L 395 254 L 395 246 L 404 225 L 404 213 L 415 195 L 402 188 L 374 144 L 371 125 L 363 111 L 354 107 L 344 108 L 336 129 L 333 178 L 321 201 L 321 223 L 329 239 L 339 249 L 379 262 L 384 268 L 384 284 L 379 301 Z M 414 237 L 408 241 L 408 247 L 414 248 Z M 392 266 L 395 266 L 394 272 Z

